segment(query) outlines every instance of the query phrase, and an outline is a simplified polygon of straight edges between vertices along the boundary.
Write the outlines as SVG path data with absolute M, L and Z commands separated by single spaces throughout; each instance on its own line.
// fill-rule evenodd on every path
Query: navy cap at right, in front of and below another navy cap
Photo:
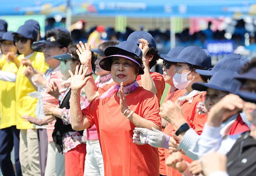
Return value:
M 240 82 L 235 79 L 238 75 L 236 71 L 219 70 L 212 76 L 208 83 L 196 82 L 192 84 L 192 88 L 197 91 L 207 91 L 208 88 L 224 92 L 236 92 L 240 87 Z

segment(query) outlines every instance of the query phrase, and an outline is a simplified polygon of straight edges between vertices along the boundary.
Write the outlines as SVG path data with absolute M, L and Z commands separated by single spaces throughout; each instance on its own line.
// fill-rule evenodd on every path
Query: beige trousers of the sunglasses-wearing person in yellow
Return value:
M 23 176 L 41 176 L 36 129 L 20 130 L 19 161 Z

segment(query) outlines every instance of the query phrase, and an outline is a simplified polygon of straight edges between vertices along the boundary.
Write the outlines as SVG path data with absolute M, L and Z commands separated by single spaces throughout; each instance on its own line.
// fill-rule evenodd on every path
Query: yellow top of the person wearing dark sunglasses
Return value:
M 24 58 L 24 55 L 21 54 L 18 56 L 18 59 L 21 60 Z M 44 54 L 42 52 L 34 52 L 33 55 L 28 58 L 31 61 L 33 68 L 44 73 L 49 66 L 44 61 Z M 28 96 L 28 93 L 34 92 L 35 89 L 30 83 L 29 79 L 24 75 L 26 66 L 19 66 L 17 76 L 16 76 L 16 112 L 17 112 L 17 129 L 33 129 L 33 124 L 30 122 L 25 122 L 23 118 L 24 115 L 29 115 L 35 117 L 35 108 L 37 106 L 37 99 Z

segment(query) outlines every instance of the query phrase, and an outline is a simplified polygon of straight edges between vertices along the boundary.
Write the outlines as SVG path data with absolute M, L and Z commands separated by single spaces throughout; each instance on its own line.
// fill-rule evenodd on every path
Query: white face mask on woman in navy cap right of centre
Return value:
M 190 71 L 188 73 L 182 74 L 175 73 L 174 77 L 172 78 L 172 81 L 177 89 L 185 89 L 186 87 L 188 87 L 189 83 L 193 81 L 188 81 L 187 77 L 189 73 Z

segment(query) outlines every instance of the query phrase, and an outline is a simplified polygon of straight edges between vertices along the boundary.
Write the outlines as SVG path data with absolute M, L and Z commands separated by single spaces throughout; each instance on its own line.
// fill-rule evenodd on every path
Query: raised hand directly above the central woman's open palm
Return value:
M 91 64 L 91 45 L 83 44 L 81 41 L 76 45 L 77 47 L 77 55 L 79 56 L 79 60 L 81 64 L 87 66 L 87 64 Z

